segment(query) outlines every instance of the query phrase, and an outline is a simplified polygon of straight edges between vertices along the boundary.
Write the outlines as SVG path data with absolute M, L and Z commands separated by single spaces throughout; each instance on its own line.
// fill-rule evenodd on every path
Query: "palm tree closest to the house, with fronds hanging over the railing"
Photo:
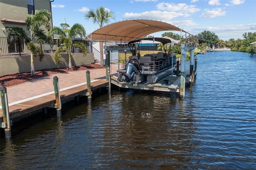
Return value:
M 40 61 L 44 58 L 43 51 L 35 45 L 33 38 L 36 38 L 38 43 L 48 43 L 52 44 L 52 38 L 47 36 L 45 31 L 41 28 L 44 26 L 48 31 L 51 28 L 50 20 L 52 15 L 48 10 L 39 10 L 34 15 L 28 15 L 25 22 L 27 29 L 30 32 L 30 42 L 26 45 L 30 50 L 30 60 L 31 60 L 31 76 L 35 74 L 34 68 L 34 56 L 39 55 Z

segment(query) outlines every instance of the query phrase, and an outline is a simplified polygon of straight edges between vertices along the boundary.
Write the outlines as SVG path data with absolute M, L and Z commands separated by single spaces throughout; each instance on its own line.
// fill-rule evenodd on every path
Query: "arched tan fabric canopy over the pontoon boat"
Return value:
M 186 32 L 166 22 L 156 20 L 126 20 L 99 28 L 85 39 L 130 42 L 160 31 Z

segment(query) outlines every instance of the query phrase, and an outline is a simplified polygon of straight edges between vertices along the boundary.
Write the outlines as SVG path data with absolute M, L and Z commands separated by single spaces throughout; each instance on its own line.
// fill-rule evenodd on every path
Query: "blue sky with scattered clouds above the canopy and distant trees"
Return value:
M 99 25 L 85 20 L 84 15 L 100 6 L 114 12 L 115 20 L 111 23 L 130 19 L 160 20 L 194 35 L 204 30 L 214 32 L 224 41 L 243 39 L 245 32 L 256 32 L 256 0 L 54 0 L 53 25 L 80 23 L 88 35 Z M 163 33 L 150 35 L 161 37 Z

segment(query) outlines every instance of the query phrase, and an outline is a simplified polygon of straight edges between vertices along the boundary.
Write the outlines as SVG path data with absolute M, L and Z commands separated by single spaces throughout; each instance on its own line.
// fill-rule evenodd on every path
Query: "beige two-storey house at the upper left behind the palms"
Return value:
M 26 27 L 26 18 L 39 10 L 46 9 L 51 12 L 53 0 L 1 0 L 0 1 L 0 56 L 28 54 L 24 40 L 12 38 L 7 40 L 6 30 L 20 27 L 29 32 Z M 52 26 L 52 20 L 50 22 Z M 45 30 L 47 32 L 47 30 Z

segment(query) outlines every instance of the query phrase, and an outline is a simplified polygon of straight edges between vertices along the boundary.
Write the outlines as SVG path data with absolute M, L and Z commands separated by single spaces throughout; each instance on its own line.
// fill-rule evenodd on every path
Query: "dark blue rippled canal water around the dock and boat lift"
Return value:
M 112 91 L 60 118 L 28 121 L 1 139 L 0 169 L 255 169 L 256 56 L 196 57 L 184 101 Z

